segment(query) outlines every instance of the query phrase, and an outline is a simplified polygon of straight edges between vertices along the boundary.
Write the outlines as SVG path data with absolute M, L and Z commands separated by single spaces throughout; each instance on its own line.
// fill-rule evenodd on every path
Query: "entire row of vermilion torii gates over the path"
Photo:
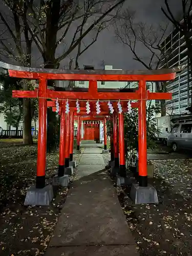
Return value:
M 25 68 L 0 63 L 1 67 L 8 69 L 11 77 L 38 79 L 38 90 L 34 91 L 13 91 L 13 97 L 19 98 L 38 98 L 38 147 L 37 147 L 37 176 L 36 187 L 31 190 L 31 194 L 41 193 L 45 190 L 46 175 L 46 141 L 47 141 L 47 107 L 52 106 L 55 110 L 55 101 L 58 99 L 60 112 L 60 146 L 59 146 L 59 166 L 58 177 L 65 175 L 65 168 L 69 166 L 73 154 L 73 123 L 74 116 L 78 120 L 77 132 L 77 150 L 80 143 L 80 120 L 82 116 L 87 116 L 86 101 L 89 100 L 92 115 L 84 117 L 83 120 L 104 120 L 104 148 L 106 148 L 106 116 L 110 116 L 111 129 L 111 161 L 115 161 L 119 174 L 123 177 L 126 175 L 125 170 L 125 153 L 124 153 L 124 123 L 123 112 L 127 112 L 126 105 L 129 100 L 137 100 L 132 103 L 132 108 L 138 108 L 139 127 L 138 127 L 138 166 L 139 166 L 139 187 L 147 187 L 147 143 L 146 143 L 146 100 L 152 99 L 172 99 L 172 93 L 151 93 L 146 90 L 147 81 L 169 81 L 174 80 L 176 72 L 183 67 L 162 69 L 162 70 L 145 70 L 145 71 L 106 71 L 106 70 L 52 70 L 52 69 L 36 69 Z M 81 89 L 63 89 L 65 91 L 54 91 L 47 88 L 47 80 L 83 80 L 89 81 L 89 90 Z M 97 81 L 138 81 L 139 88 L 133 90 L 111 90 L 98 89 Z M 80 112 L 77 113 L 76 100 L 80 104 Z M 99 99 L 101 112 L 97 117 L 95 103 Z M 48 101 L 49 100 L 49 101 Z M 66 114 L 66 100 L 69 101 L 70 111 Z M 113 103 L 114 113 L 110 115 L 108 101 Z M 118 113 L 117 102 L 120 100 L 123 112 Z M 81 118 L 80 118 L 81 116 Z M 119 143 L 118 143 L 119 137 Z M 119 144 L 119 147 L 118 147 Z M 44 191 L 44 194 L 45 191 Z M 49 196 L 50 192 L 46 195 Z M 33 197 L 35 197 L 33 195 Z M 48 197 L 45 196 L 45 197 Z M 52 196 L 50 196 L 52 197 Z M 52 199 L 52 198 L 51 198 Z M 48 201 L 50 201 L 49 199 Z M 29 200 L 30 201 L 30 200 Z M 37 202 L 36 200 L 35 202 Z M 34 203 L 33 199 L 31 204 Z M 30 204 L 28 202 L 28 204 Z

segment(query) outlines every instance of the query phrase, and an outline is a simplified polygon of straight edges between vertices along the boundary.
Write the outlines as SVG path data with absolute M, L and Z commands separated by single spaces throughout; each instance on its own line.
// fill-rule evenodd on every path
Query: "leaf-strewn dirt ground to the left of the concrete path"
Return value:
M 0 255 L 44 255 L 68 188 L 55 190 L 50 207 L 24 206 L 34 184 L 37 145 L 0 142 Z M 57 173 L 58 153 L 47 155 L 46 181 Z M 79 161 L 80 155 L 75 156 Z

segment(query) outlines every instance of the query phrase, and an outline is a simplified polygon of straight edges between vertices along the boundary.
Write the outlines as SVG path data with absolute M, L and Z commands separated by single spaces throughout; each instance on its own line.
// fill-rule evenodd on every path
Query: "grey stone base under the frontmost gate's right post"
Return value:
M 139 184 L 132 184 L 130 197 L 135 204 L 158 204 L 157 190 L 152 185 L 141 187 Z

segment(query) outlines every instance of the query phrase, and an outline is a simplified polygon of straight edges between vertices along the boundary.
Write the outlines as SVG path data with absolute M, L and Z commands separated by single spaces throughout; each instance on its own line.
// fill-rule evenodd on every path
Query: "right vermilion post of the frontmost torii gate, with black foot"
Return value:
M 147 186 L 147 145 L 146 145 L 146 81 L 139 81 L 139 186 Z

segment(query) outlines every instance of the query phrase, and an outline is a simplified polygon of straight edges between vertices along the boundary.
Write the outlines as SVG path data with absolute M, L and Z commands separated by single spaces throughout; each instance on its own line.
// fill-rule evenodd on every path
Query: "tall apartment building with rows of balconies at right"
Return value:
M 172 100 L 166 100 L 169 114 L 186 114 L 191 104 L 191 79 L 184 36 L 174 30 L 161 44 L 162 62 L 160 68 L 172 68 L 186 64 L 187 67 L 176 75 L 174 81 L 167 82 L 167 91 L 173 93 Z

